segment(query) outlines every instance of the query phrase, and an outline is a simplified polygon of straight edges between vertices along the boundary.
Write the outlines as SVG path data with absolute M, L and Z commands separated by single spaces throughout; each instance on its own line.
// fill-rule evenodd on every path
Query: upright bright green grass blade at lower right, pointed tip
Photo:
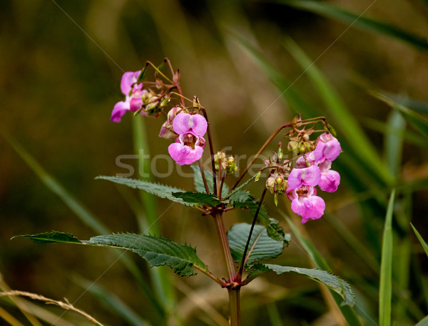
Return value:
M 395 190 L 389 198 L 387 217 L 385 218 L 382 240 L 382 260 L 380 262 L 379 288 L 379 326 L 391 325 L 392 299 L 392 212 L 394 209 Z

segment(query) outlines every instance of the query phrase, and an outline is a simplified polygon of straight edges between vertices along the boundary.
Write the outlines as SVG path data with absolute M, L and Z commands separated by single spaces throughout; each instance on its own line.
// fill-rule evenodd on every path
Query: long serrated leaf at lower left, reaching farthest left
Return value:
M 136 252 L 147 260 L 151 267 L 167 265 L 180 276 L 191 276 L 196 273 L 193 265 L 208 271 L 208 267 L 196 255 L 196 250 L 188 245 L 172 242 L 164 237 L 153 237 L 146 234 L 108 234 L 91 237 L 87 241 L 78 240 L 68 233 L 50 232 L 23 235 L 38 243 L 71 243 L 78 245 L 95 245 L 114 247 Z

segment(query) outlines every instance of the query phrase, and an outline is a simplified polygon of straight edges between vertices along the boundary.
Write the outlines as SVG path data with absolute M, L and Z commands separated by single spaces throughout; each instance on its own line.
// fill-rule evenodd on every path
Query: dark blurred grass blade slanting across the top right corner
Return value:
M 345 11 L 339 9 L 330 4 L 326 4 L 322 1 L 306 1 L 306 0 L 277 0 L 278 2 L 285 4 L 287 6 L 292 6 L 298 9 L 304 9 L 311 11 L 315 14 L 325 16 L 327 18 L 336 19 L 342 21 L 348 26 L 354 26 L 360 29 L 365 29 L 376 34 L 384 34 L 387 36 L 392 36 L 394 39 L 399 39 L 404 41 L 412 46 L 422 49 L 424 51 L 428 50 L 428 42 L 425 37 L 412 34 L 403 29 L 399 29 L 393 25 L 385 24 L 382 21 L 376 21 L 374 19 L 369 19 L 362 14 L 352 14 L 350 11 Z

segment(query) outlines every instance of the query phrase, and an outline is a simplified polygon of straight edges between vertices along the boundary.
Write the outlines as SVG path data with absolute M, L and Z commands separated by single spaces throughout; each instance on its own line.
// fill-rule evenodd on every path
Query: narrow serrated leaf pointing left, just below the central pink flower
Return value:
M 123 177 L 100 176 L 100 177 L 96 177 L 96 179 L 108 180 L 111 182 L 115 182 L 117 184 L 123 184 L 131 188 L 140 189 L 145 192 L 148 192 L 149 194 L 156 194 L 156 196 L 158 197 L 170 199 L 170 201 L 172 202 L 178 202 L 185 206 L 195 206 L 193 202 L 185 202 L 183 199 L 173 196 L 173 192 L 184 192 L 183 189 L 166 186 L 165 184 L 156 184 L 153 182 L 147 182 L 143 180 L 123 178 Z

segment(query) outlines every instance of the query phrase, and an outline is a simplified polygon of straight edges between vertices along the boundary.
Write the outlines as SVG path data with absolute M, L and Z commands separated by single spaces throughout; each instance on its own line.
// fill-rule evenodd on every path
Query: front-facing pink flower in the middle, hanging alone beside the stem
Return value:
M 173 130 L 179 134 L 168 152 L 177 164 L 192 164 L 202 157 L 208 123 L 200 114 L 179 113 L 173 120 Z

